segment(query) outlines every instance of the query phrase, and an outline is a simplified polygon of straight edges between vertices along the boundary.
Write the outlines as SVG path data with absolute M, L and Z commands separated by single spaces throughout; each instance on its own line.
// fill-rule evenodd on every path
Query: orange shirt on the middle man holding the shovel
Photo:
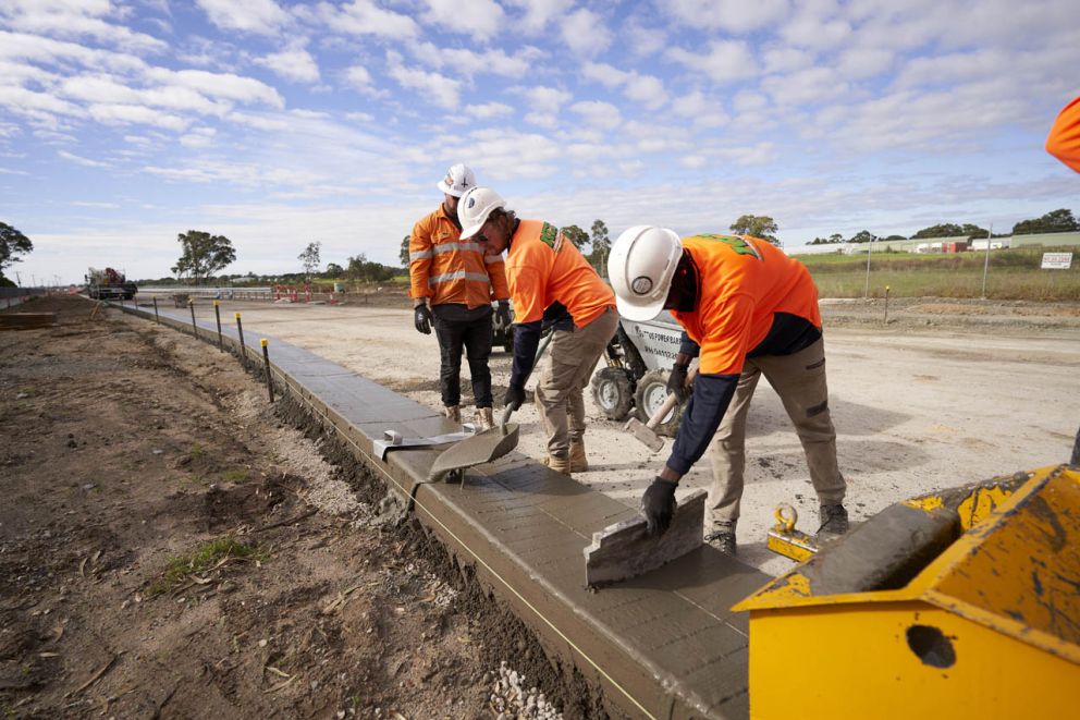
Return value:
M 543 319 L 544 309 L 557 301 L 584 328 L 615 306 L 615 293 L 574 243 L 542 220 L 518 224 L 506 254 L 506 281 L 515 322 Z

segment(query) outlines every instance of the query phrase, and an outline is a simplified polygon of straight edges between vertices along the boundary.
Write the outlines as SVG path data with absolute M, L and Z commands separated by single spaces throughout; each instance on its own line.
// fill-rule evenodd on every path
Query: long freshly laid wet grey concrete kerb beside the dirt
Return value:
M 154 319 L 152 309 L 123 309 Z M 159 314 L 192 332 L 182 312 Z M 197 325 L 204 340 L 217 330 Z M 222 333 L 240 351 L 235 330 Z M 459 427 L 308 351 L 273 339 L 269 346 L 275 385 L 333 425 L 367 465 L 410 498 L 419 521 L 476 566 L 547 651 L 603 687 L 610 711 L 748 717 L 747 617 L 729 608 L 769 575 L 702 546 L 660 570 L 590 591 L 584 549 L 593 533 L 635 511 L 518 452 L 474 467 L 464 484 L 428 483 L 441 449 L 392 450 L 380 461 L 373 443 L 386 430 L 415 438 Z M 249 359 L 261 359 L 245 350 Z

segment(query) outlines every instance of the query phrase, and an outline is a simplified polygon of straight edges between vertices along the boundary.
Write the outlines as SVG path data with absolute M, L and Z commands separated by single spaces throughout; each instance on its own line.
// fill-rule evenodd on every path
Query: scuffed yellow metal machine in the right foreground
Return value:
M 778 515 L 780 517 L 780 515 Z M 1080 715 L 1080 469 L 892 505 L 746 598 L 752 718 Z

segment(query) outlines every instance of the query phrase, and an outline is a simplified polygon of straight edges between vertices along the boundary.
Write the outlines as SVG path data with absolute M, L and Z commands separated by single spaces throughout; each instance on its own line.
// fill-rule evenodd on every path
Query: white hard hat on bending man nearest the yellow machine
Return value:
M 619 315 L 643 321 L 664 309 L 680 257 L 683 243 L 674 230 L 652 225 L 624 230 L 608 256 Z

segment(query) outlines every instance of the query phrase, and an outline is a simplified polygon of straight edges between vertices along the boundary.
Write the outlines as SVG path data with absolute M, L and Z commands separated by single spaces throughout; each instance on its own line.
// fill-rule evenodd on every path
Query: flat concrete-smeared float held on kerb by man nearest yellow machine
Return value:
M 599 587 L 665 565 L 704 541 L 705 496 L 695 490 L 675 508 L 671 527 L 660 537 L 646 532 L 645 516 L 609 525 L 592 534 L 585 548 L 585 583 Z

